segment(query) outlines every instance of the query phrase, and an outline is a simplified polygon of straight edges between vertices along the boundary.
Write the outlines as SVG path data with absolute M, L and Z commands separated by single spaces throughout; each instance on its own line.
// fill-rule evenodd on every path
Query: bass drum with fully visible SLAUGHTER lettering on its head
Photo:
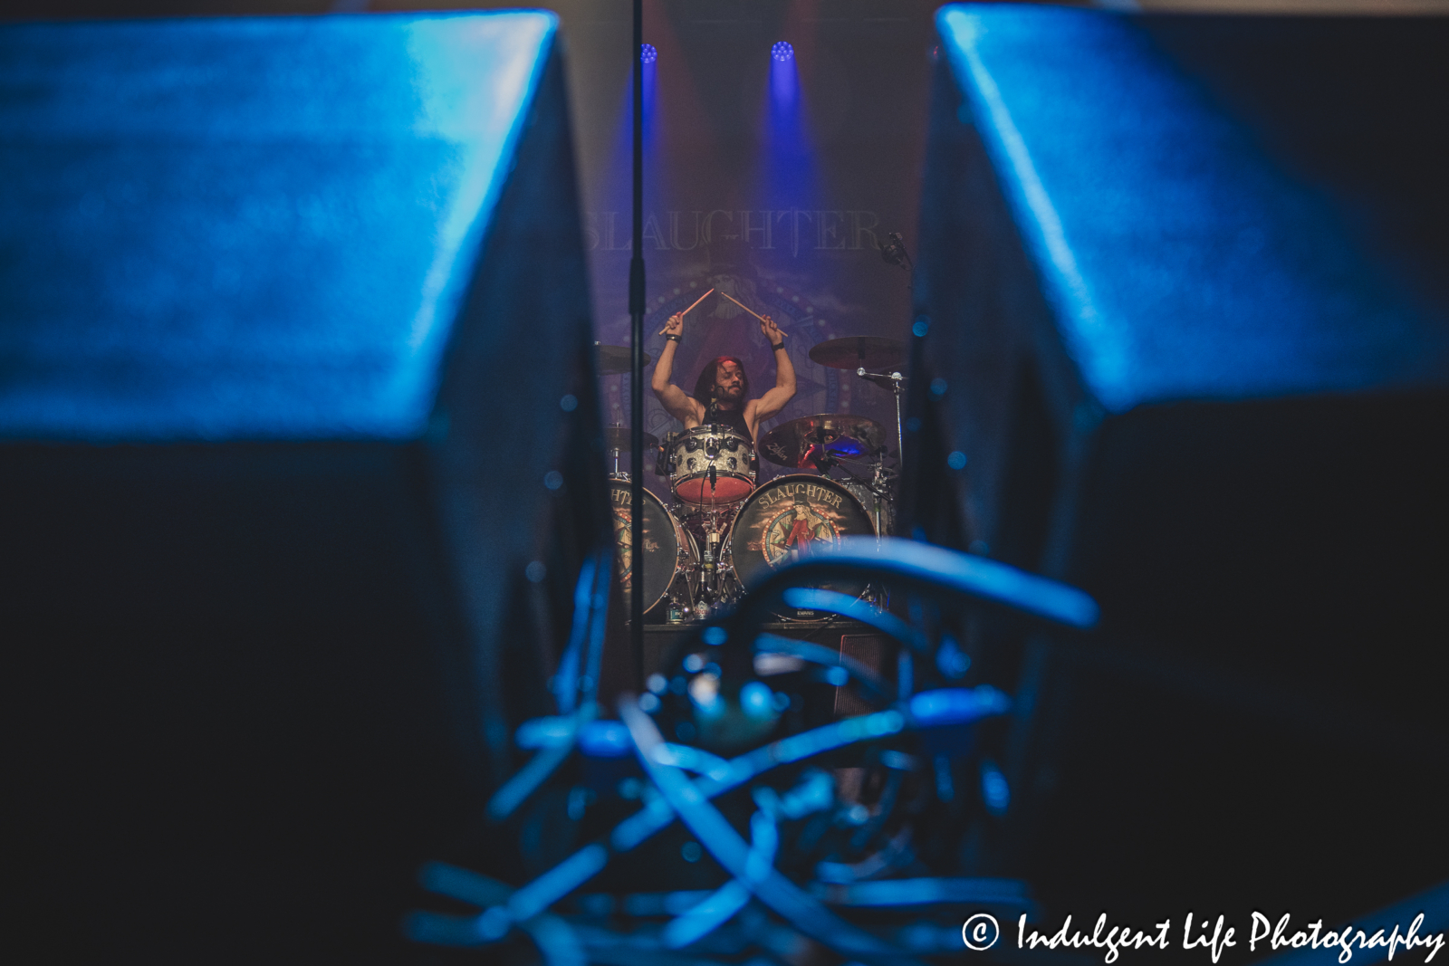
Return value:
M 833 479 L 793 474 L 751 494 L 729 532 L 735 579 L 751 587 L 778 566 L 840 537 L 875 536 L 871 517 L 851 491 Z M 864 584 L 817 584 L 820 589 L 859 597 Z M 785 610 L 785 620 L 822 620 L 814 611 Z

